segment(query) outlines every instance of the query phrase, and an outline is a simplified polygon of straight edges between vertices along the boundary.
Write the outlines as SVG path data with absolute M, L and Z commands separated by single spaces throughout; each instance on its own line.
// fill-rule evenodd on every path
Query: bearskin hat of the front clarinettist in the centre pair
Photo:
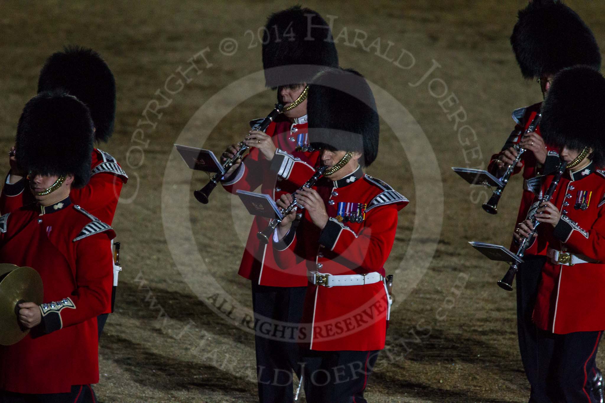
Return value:
M 325 69 L 309 85 L 309 141 L 313 147 L 363 153 L 370 166 L 378 155 L 380 124 L 364 77 L 353 69 Z

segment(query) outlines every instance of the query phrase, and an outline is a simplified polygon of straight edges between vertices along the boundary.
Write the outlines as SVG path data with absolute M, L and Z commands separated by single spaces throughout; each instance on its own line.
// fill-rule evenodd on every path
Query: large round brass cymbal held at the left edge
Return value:
M 0 273 L 7 269 L 0 265 Z M 19 301 L 42 303 L 44 288 L 40 274 L 31 267 L 19 267 L 0 282 L 0 344 L 10 346 L 25 337 L 30 329 L 22 330 L 15 308 Z

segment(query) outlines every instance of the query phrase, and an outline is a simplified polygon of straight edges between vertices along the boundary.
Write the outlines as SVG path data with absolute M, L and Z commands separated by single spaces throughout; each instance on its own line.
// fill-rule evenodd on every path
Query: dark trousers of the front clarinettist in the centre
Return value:
M 379 350 L 304 352 L 304 392 L 312 403 L 367 403 L 365 387 Z

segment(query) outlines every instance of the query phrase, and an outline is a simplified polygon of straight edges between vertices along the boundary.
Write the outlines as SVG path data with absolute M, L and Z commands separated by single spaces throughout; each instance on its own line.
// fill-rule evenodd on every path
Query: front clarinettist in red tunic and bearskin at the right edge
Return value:
M 551 201 L 534 202 L 528 217 L 540 222 L 529 252 L 547 257 L 533 314 L 535 401 L 600 402 L 590 381 L 605 329 L 605 79 L 589 66 L 564 69 L 541 111 L 542 135 L 567 170 Z M 515 239 L 531 228 L 520 223 Z

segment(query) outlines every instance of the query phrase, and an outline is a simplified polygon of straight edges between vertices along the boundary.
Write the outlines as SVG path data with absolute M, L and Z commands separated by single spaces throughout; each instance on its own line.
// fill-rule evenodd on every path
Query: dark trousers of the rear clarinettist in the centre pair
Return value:
M 252 282 L 258 398 L 293 402 L 293 373 L 300 375 L 298 326 L 307 287 L 269 287 Z

